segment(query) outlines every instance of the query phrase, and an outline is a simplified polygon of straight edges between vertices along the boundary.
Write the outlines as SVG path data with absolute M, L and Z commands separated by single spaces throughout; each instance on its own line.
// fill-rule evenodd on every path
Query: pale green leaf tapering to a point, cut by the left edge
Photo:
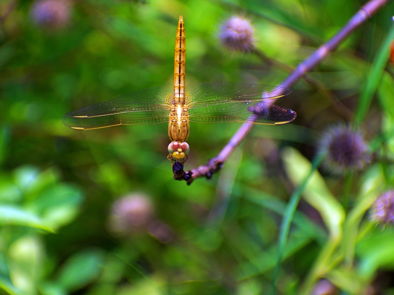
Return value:
M 33 213 L 14 206 L 0 206 L 0 225 L 27 226 L 53 233 L 42 220 Z

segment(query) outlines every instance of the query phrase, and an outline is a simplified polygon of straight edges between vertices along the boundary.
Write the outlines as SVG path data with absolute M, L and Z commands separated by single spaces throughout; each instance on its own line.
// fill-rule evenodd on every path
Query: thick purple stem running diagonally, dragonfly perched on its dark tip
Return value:
M 334 51 L 338 45 L 357 29 L 362 23 L 367 21 L 373 14 L 375 14 L 384 5 L 389 3 L 390 0 L 371 0 L 363 5 L 360 10 L 349 20 L 343 29 L 341 29 L 335 36 L 333 36 L 327 43 L 320 46 L 312 55 L 300 63 L 296 69 L 285 79 L 280 86 L 290 88 L 298 79 L 311 71 L 319 62 L 325 59 L 328 54 Z M 251 119 L 256 119 L 256 115 L 252 115 Z M 186 180 L 191 184 L 193 180 L 198 177 L 210 178 L 216 171 L 222 168 L 223 164 L 227 161 L 232 151 L 244 140 L 244 138 L 252 130 L 254 124 L 244 123 L 230 139 L 230 142 L 220 151 L 217 157 L 209 160 L 209 162 L 185 173 L 188 177 L 183 179 L 175 178 L 178 180 Z

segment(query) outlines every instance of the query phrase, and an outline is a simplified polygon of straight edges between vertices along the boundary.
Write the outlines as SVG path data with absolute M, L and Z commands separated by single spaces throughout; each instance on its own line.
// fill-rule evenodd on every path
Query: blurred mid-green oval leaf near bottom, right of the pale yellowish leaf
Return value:
M 99 249 L 78 252 L 60 270 L 57 283 L 69 292 L 95 280 L 104 265 L 104 253 Z

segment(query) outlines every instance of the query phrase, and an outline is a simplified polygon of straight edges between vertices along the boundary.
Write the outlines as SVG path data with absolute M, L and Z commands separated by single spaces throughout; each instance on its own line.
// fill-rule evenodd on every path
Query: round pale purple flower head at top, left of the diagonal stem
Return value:
M 220 29 L 219 38 L 230 51 L 250 52 L 255 47 L 254 29 L 242 17 L 233 16 Z

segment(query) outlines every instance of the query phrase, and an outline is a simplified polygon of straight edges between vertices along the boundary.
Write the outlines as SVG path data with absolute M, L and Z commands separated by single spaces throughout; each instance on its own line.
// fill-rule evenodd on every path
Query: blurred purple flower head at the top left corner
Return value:
M 31 11 L 34 22 L 46 29 L 60 29 L 70 19 L 69 0 L 38 0 Z

